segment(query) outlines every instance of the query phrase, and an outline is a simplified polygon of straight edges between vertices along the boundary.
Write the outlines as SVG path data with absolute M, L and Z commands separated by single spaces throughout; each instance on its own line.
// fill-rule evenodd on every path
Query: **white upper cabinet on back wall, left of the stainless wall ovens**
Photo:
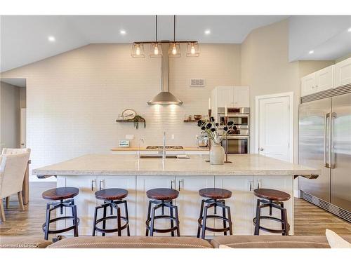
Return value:
M 218 107 L 250 107 L 249 86 L 218 86 L 212 92 L 212 109 Z

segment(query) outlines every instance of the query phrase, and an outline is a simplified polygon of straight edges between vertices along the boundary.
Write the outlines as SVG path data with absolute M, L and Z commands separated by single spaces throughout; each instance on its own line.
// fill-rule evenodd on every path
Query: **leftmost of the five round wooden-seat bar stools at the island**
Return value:
M 79 189 L 76 187 L 58 187 L 44 191 L 44 193 L 41 194 L 41 196 L 43 196 L 43 198 L 46 200 L 60 200 L 59 202 L 50 202 L 46 204 L 46 220 L 42 227 L 44 231 L 44 238 L 46 240 L 48 240 L 48 234 L 63 233 L 72 229 L 74 231 L 74 236 L 78 236 L 79 218 L 77 217 L 77 206 L 74 205 L 73 199 L 73 197 L 77 196 L 77 194 L 79 194 Z M 63 208 L 71 208 L 72 216 L 56 217 L 51 220 L 51 211 L 58 208 L 60 208 L 60 215 L 63 214 Z M 60 220 L 72 220 L 73 224 L 71 227 L 67 227 L 65 229 L 50 230 L 50 224 Z

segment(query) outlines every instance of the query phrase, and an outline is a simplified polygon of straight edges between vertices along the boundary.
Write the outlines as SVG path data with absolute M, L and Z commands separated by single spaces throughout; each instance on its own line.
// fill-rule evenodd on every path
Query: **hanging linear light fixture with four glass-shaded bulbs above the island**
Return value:
M 176 15 L 173 15 L 173 41 L 163 40 L 157 41 L 157 15 L 156 15 L 156 30 L 155 30 L 155 41 L 138 41 L 133 42 L 132 46 L 132 57 L 133 58 L 145 58 L 144 45 L 150 44 L 150 58 L 159 58 L 166 54 L 164 48 L 161 47 L 162 44 L 168 44 L 168 57 L 179 58 L 180 43 L 187 43 L 187 57 L 198 57 L 199 52 L 199 42 L 194 40 L 187 41 L 176 41 Z

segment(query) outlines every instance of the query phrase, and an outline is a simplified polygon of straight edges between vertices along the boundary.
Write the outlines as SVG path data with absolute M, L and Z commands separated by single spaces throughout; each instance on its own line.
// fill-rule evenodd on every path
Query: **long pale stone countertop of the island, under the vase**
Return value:
M 190 159 L 138 159 L 131 155 L 89 154 L 32 170 L 33 175 L 319 175 L 321 170 L 259 154 L 228 156 L 232 163 L 210 165 L 208 155 Z

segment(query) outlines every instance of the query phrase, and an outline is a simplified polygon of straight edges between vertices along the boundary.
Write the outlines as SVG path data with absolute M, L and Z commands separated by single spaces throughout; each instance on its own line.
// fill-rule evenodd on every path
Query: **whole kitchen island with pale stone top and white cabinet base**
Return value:
M 256 210 L 253 189 L 258 187 L 278 189 L 286 191 L 293 197 L 293 180 L 296 176 L 315 177 L 320 173 L 317 169 L 258 154 L 228 156 L 232 163 L 225 163 L 222 166 L 210 165 L 206 159 L 208 159 L 206 155 L 191 155 L 190 159 L 163 160 L 139 159 L 138 156 L 131 155 L 91 154 L 35 169 L 32 174 L 38 177 L 56 176 L 58 187 L 80 189 L 79 195 L 74 197 L 80 218 L 80 235 L 91 235 L 94 208 L 100 203 L 95 199 L 94 192 L 112 187 L 124 188 L 129 192 L 126 200 L 131 235 L 145 235 L 148 202 L 145 193 L 152 188 L 166 187 L 180 191 L 176 199 L 180 234 L 196 236 L 201 203 L 199 189 L 219 187 L 232 191 L 232 197 L 227 199 L 226 203 L 232 209 L 234 234 L 251 235 L 252 219 Z M 289 233 L 293 234 L 293 198 L 284 204 L 291 225 Z M 280 213 L 274 216 L 280 217 Z M 58 227 L 65 227 L 62 224 L 65 222 L 58 223 Z M 159 222 L 158 226 L 168 227 L 165 224 Z M 213 220 L 208 225 L 218 227 L 222 224 Z M 263 225 L 280 227 L 278 222 L 264 222 Z M 107 227 L 113 227 L 113 223 L 108 222 Z

